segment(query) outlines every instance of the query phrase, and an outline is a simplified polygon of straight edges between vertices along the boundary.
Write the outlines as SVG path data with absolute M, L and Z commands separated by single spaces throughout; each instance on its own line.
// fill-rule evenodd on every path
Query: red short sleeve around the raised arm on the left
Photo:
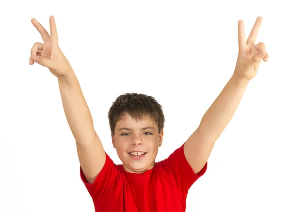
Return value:
M 89 183 L 87 181 L 80 166 L 81 180 L 94 201 L 97 200 L 96 198 L 104 198 L 106 194 L 111 192 L 114 188 L 116 180 L 118 179 L 117 165 L 113 163 L 111 158 L 106 153 L 105 155 L 105 163 L 93 183 Z

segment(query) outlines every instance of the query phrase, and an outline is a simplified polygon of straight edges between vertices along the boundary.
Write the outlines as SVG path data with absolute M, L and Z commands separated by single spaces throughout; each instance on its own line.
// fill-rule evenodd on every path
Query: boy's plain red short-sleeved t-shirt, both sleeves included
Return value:
M 184 155 L 184 144 L 167 159 L 142 174 L 129 173 L 106 154 L 105 164 L 91 184 L 80 167 L 81 179 L 96 212 L 185 212 L 189 188 L 196 175 Z

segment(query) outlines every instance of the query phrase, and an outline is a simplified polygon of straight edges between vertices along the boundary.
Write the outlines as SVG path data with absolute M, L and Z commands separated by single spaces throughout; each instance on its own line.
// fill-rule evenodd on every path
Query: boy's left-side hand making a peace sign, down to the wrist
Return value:
M 32 24 L 41 34 L 44 43 L 36 42 L 33 45 L 29 64 L 33 65 L 36 62 L 46 66 L 56 77 L 71 74 L 73 69 L 58 45 L 58 34 L 54 16 L 49 17 L 50 35 L 35 18 L 32 18 Z

